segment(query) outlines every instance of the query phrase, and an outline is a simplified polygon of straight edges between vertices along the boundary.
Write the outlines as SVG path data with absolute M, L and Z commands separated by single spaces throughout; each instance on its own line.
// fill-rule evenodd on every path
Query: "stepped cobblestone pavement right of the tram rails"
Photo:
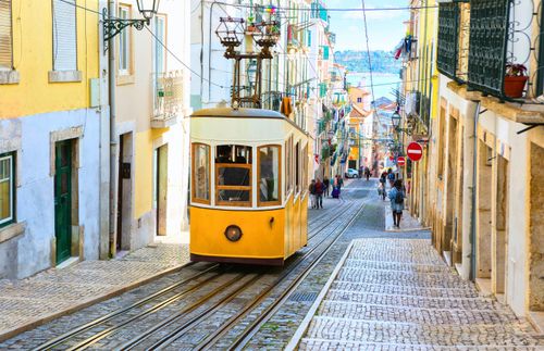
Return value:
M 300 350 L 544 350 L 528 323 L 480 297 L 428 239 L 356 239 L 349 250 Z

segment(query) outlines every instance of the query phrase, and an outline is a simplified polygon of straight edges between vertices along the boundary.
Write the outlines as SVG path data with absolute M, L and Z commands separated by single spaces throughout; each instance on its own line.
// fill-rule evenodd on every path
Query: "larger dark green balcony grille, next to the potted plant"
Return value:
M 511 0 L 470 1 L 469 87 L 503 97 Z

